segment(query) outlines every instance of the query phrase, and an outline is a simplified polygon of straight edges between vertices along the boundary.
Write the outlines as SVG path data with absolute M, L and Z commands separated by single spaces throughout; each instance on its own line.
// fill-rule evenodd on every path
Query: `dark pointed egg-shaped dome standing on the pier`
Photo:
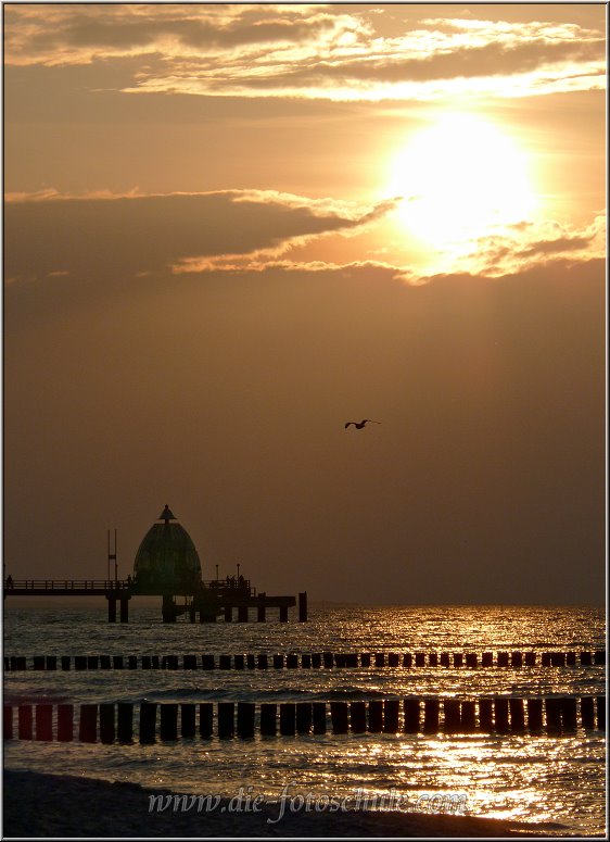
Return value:
M 192 593 L 201 581 L 195 545 L 167 505 L 138 548 L 134 576 L 140 593 Z

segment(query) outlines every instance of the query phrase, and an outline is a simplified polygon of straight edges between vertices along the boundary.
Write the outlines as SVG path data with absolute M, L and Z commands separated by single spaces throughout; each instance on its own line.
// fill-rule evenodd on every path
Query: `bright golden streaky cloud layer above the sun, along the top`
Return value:
M 457 16 L 460 15 L 460 16 Z M 8 64 L 139 58 L 123 90 L 329 100 L 603 89 L 605 35 L 577 24 L 428 17 L 389 35 L 341 7 L 8 7 Z

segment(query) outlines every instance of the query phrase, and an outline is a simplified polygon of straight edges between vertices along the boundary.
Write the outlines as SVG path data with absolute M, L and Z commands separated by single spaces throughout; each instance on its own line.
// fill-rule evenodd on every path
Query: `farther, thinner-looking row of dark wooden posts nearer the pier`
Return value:
M 494 658 L 494 654 L 496 657 Z M 61 669 L 67 670 L 74 664 L 75 669 L 288 669 L 302 667 L 332 668 L 332 667 L 463 667 L 476 669 L 481 667 L 522 667 L 536 666 L 537 654 L 531 652 L 483 652 L 481 661 L 475 652 L 314 652 L 312 654 L 297 653 L 274 654 L 265 653 L 249 655 L 201 655 L 201 667 L 198 655 L 35 655 L 31 658 L 33 669 Z M 606 652 L 542 652 L 539 664 L 545 666 L 594 666 L 606 663 Z M 27 658 L 22 656 L 4 656 L 4 669 L 27 669 Z

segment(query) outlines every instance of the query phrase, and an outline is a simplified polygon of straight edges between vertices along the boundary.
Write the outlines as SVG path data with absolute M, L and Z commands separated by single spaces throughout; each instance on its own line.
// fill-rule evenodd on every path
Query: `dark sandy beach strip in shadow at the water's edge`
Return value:
M 259 804 L 259 812 L 233 812 L 229 799 L 213 809 L 198 812 L 173 806 L 150 812 L 151 795 L 171 796 L 167 790 L 33 771 L 4 771 L 3 838 L 163 838 L 163 837 L 548 837 L 571 835 L 561 825 L 498 821 L 470 816 L 406 814 L 401 812 L 330 812 L 285 809 L 278 803 Z M 185 802 L 181 802 L 183 804 Z M 563 831 L 563 832 L 562 832 Z

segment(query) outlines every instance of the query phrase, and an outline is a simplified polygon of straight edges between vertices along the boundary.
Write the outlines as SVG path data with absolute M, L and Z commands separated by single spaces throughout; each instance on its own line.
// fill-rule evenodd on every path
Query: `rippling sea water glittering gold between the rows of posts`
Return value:
M 592 607 L 310 606 L 309 621 L 161 621 L 160 606 L 130 603 L 127 625 L 105 603 L 4 603 L 4 655 L 268 655 L 289 652 L 569 651 L 606 648 L 605 613 Z M 292 618 L 291 618 L 292 619 Z M 84 670 L 4 674 L 4 703 L 333 701 L 403 695 L 603 694 L 603 666 L 333 668 L 267 670 Z M 200 662 L 201 665 L 201 662 Z M 137 733 L 137 732 L 136 732 Z M 233 797 L 313 800 L 385 795 L 418 808 L 461 799 L 471 816 L 559 822 L 606 832 L 606 739 L 571 736 L 333 734 L 153 745 L 4 744 L 8 768 L 129 780 L 147 788 Z M 434 802 L 433 796 L 436 796 Z M 445 803 L 447 803 L 445 801 Z

